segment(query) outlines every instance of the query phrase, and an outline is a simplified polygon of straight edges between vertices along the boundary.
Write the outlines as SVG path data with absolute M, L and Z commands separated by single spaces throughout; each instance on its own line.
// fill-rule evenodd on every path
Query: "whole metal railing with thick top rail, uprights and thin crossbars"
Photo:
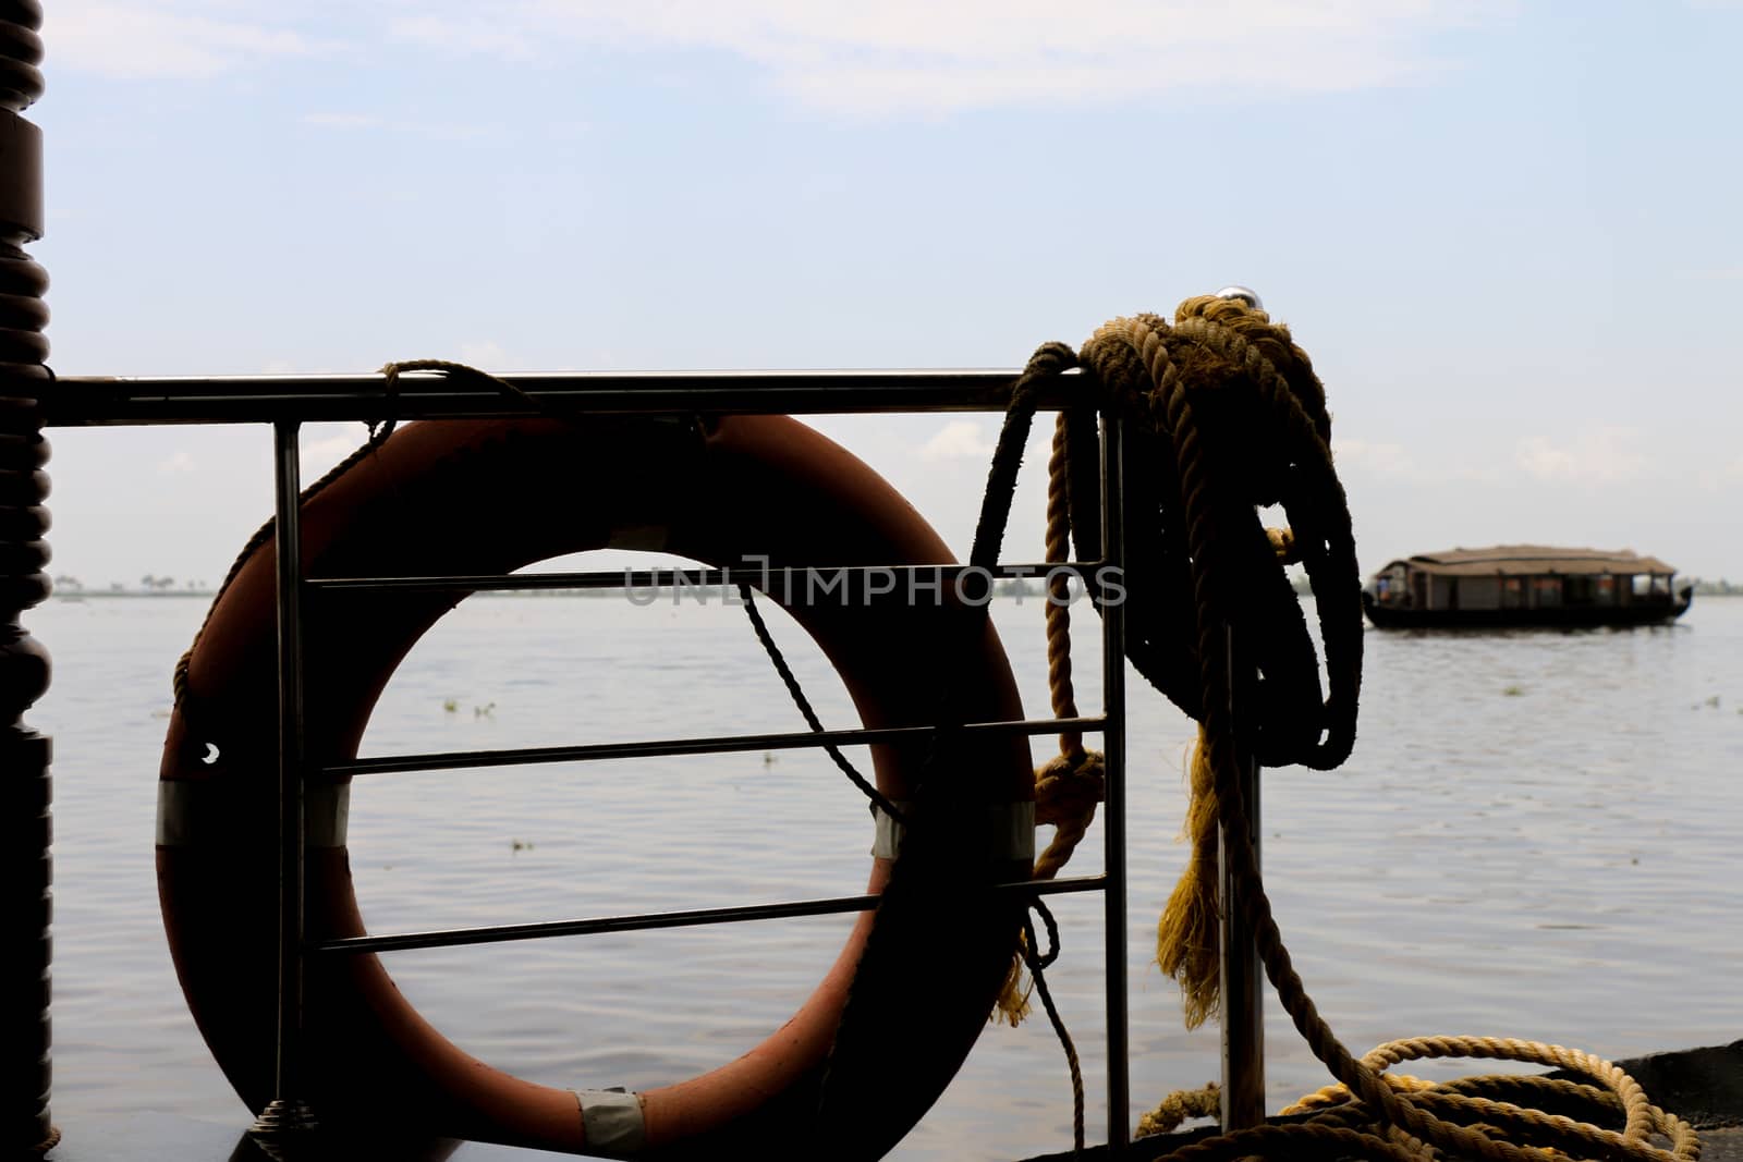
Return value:
M 507 376 L 537 406 L 556 415 L 671 415 L 671 413 L 898 413 L 898 411 L 1004 411 L 1014 371 L 802 371 L 802 373 L 647 373 L 647 375 L 514 375 Z M 1068 382 L 1042 409 L 1068 399 Z M 404 373 L 390 383 L 382 375 L 350 376 L 223 376 L 223 378 L 64 378 L 42 399 L 47 425 L 159 425 L 159 423 L 270 423 L 274 429 L 277 627 L 279 627 L 279 1010 L 275 1099 L 256 1122 L 256 1132 L 291 1134 L 310 1124 L 302 1105 L 303 976 L 309 956 L 356 955 L 411 948 L 450 948 L 556 936 L 629 932 L 645 929 L 737 923 L 779 916 L 865 911 L 875 895 L 847 895 L 795 902 L 746 904 L 690 911 L 551 920 L 460 930 L 361 936 L 309 942 L 303 932 L 303 789 L 310 775 L 432 768 L 498 767 L 514 763 L 591 761 L 633 756 L 718 754 L 732 751 L 795 749 L 891 742 L 926 735 L 933 726 L 828 730 L 734 737 L 662 739 L 647 742 L 577 744 L 498 751 L 401 754 L 359 758 L 314 768 L 303 742 L 303 598 L 322 591 L 530 591 L 598 589 L 626 584 L 624 573 L 535 573 L 492 577 L 333 577 L 310 578 L 302 559 L 300 425 L 322 420 L 486 418 L 535 415 L 525 399 L 481 388 L 443 375 Z M 1122 434 L 1117 416 L 1102 423 L 1102 561 L 1072 563 L 1091 571 L 1124 568 L 1121 510 Z M 1016 577 L 1048 566 L 1000 566 L 994 577 Z M 901 571 L 905 566 L 859 566 Z M 924 566 L 931 570 L 933 566 Z M 948 570 L 950 566 L 946 566 Z M 685 573 L 706 584 L 755 582 L 755 570 Z M 648 570 L 634 584 L 673 584 L 678 573 Z M 1126 690 L 1124 618 L 1119 603 L 1102 610 L 1103 711 L 1068 719 L 1009 719 L 952 726 L 973 733 L 1039 735 L 1060 730 L 1100 732 L 1105 754 L 1103 873 L 1055 882 L 1006 883 L 994 890 L 1020 894 L 1103 892 L 1105 1014 L 1107 1014 L 1107 1118 L 1109 1157 L 1128 1145 L 1128 981 L 1126 981 Z M 319 1110 L 312 1111 L 315 1117 Z

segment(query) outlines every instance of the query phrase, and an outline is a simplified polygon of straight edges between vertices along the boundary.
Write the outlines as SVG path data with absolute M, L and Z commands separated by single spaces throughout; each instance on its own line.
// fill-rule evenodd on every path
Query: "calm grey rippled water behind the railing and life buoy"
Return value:
M 1046 706 L 1039 605 L 1000 605 L 1025 704 Z M 241 1129 L 169 963 L 152 821 L 169 669 L 204 603 L 54 601 L 28 624 L 56 659 L 31 721 L 56 739 L 56 1120 L 167 1111 Z M 831 725 L 845 693 L 777 625 Z M 1093 643 L 1079 672 L 1095 706 Z M 1217 1075 L 1149 965 L 1185 859 L 1190 725 L 1131 676 L 1135 1113 Z M 451 707 L 451 709 L 450 709 Z M 411 655 L 366 753 L 798 730 L 739 610 L 474 598 Z M 1037 740 L 1037 754 L 1051 742 Z M 1265 868 L 1309 991 L 1356 1051 L 1497 1033 L 1619 1057 L 1743 1035 L 1743 601 L 1631 632 L 1368 632 L 1356 756 L 1267 775 Z M 530 922 L 863 887 L 870 824 L 802 753 L 389 775 L 354 789 L 350 850 L 376 932 Z M 1074 862 L 1100 869 L 1100 826 Z M 1060 899 L 1049 974 L 1105 1134 L 1100 897 Z M 748 1049 L 833 960 L 840 918 L 497 948 L 389 967 L 460 1045 L 553 1085 L 645 1089 Z M 1274 1103 L 1323 1084 L 1276 1009 Z M 1070 1143 L 1046 1021 L 988 1028 L 903 1159 Z

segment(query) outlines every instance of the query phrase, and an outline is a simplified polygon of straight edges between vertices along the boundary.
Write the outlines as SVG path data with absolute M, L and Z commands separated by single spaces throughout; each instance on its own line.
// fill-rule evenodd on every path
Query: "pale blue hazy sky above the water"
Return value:
M 59 375 L 1014 368 L 1234 282 L 1325 380 L 1365 570 L 1743 580 L 1743 2 L 47 9 Z M 997 416 L 819 427 L 967 552 Z M 312 479 L 363 427 L 303 437 Z M 263 427 L 51 439 L 87 587 L 214 584 L 270 510 Z

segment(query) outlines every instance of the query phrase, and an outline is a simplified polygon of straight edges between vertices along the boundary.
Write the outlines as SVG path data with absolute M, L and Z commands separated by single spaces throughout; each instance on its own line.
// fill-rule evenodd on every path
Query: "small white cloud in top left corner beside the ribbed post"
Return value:
M 47 5 L 44 38 L 56 66 L 125 80 L 199 80 L 326 47 L 275 12 L 263 3 L 59 0 Z

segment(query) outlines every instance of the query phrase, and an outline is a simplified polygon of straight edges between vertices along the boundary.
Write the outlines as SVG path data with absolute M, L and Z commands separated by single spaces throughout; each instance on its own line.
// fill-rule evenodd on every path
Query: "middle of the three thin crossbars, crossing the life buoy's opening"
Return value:
M 718 739 L 664 739 L 654 742 L 591 742 L 586 746 L 539 746 L 507 751 L 451 751 L 444 754 L 387 754 L 354 758 L 321 767 L 322 775 L 387 775 L 413 770 L 465 770 L 472 767 L 518 767 L 530 763 L 594 763 L 612 758 L 671 758 L 680 754 L 736 754 L 743 751 L 797 751 L 824 746 L 872 746 L 924 739 L 934 730 L 962 733 L 1044 735 L 1102 730 L 1105 716 L 1041 718 L 1002 723 L 953 723 L 943 726 L 878 726 L 875 730 L 807 730 L 798 733 L 722 735 Z

